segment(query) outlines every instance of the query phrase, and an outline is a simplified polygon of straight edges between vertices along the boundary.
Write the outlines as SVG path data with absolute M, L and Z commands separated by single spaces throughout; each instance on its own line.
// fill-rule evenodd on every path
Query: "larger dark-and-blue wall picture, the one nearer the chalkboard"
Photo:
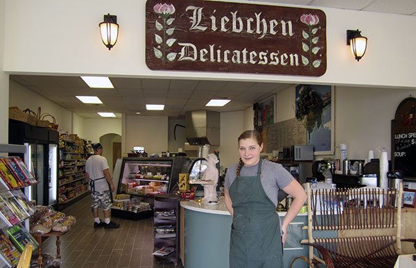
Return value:
M 306 144 L 314 155 L 333 154 L 334 87 L 331 85 L 297 85 L 295 117 L 306 128 Z

